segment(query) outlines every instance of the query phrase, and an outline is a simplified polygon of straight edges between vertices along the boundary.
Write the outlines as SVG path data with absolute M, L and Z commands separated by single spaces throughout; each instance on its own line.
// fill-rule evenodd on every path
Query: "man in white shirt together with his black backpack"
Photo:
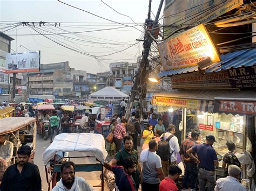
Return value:
M 176 127 L 169 125 L 167 132 L 161 135 L 160 142 L 158 142 L 157 154 L 161 158 L 161 164 L 165 177 L 168 176 L 168 169 L 170 165 L 177 164 L 177 153 L 179 153 L 178 138 L 174 136 Z

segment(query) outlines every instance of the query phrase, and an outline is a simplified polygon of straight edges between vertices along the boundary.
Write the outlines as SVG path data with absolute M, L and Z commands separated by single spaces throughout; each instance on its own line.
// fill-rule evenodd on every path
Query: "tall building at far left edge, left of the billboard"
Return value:
M 11 41 L 7 34 L 0 32 L 0 94 L 9 93 L 9 74 L 5 73 L 5 55 L 11 50 Z

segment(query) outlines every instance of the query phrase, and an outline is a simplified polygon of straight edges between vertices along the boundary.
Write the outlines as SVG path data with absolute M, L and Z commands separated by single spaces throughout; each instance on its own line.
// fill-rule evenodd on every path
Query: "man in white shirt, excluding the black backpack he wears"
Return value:
M 164 133 L 163 135 L 161 135 L 161 137 L 164 136 L 164 140 L 166 140 L 166 139 L 168 139 L 171 135 L 174 135 L 175 130 L 176 130 L 176 127 L 175 127 L 174 125 L 169 125 L 169 126 L 168 126 L 168 129 L 167 129 L 167 132 Z M 161 137 L 160 137 L 160 138 L 161 138 Z M 169 164 L 169 161 L 163 161 L 163 160 L 161 160 L 161 162 L 162 162 L 162 167 L 163 167 L 163 171 L 164 171 L 164 173 L 165 173 L 165 176 L 166 176 L 166 174 L 168 175 L 169 166 L 170 166 L 170 165 L 176 165 L 176 164 L 177 164 L 177 153 L 179 153 L 179 151 L 180 151 L 179 143 L 178 143 L 178 138 L 177 138 L 176 136 L 172 137 L 172 138 L 169 140 L 169 145 L 170 145 L 170 153 L 171 153 L 171 157 L 170 157 L 171 164 Z

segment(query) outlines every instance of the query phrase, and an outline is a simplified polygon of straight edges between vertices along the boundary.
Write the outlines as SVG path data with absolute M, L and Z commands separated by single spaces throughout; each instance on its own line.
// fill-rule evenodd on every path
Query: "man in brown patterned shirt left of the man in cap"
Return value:
M 180 146 L 180 158 L 185 168 L 185 175 L 183 179 L 183 188 L 187 188 L 188 181 L 190 181 L 190 188 L 196 190 L 196 183 L 198 179 L 198 164 L 191 160 L 187 155 L 187 150 L 197 144 L 200 136 L 199 130 L 195 129 L 191 132 L 191 138 L 185 139 Z

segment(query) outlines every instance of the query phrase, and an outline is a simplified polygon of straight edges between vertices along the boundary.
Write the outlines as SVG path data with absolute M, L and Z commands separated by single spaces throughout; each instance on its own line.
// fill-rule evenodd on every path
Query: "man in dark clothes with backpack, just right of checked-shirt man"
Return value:
M 127 130 L 130 136 L 133 138 L 133 149 L 137 151 L 138 146 L 138 136 L 141 133 L 140 125 L 139 125 L 139 115 L 136 114 L 134 119 L 130 120 L 127 123 Z

